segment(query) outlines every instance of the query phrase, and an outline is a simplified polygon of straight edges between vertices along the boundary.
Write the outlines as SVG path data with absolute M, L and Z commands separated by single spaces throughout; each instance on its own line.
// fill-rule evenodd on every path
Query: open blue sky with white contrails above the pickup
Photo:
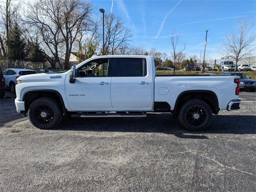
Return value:
M 170 54 L 172 30 L 180 34 L 177 48 L 186 44 L 188 55 L 200 56 L 208 29 L 206 52 L 212 59 L 224 34 L 235 28 L 242 17 L 256 18 L 255 0 L 90 0 L 95 8 L 104 8 L 121 17 L 132 30 L 134 46 Z M 101 13 L 98 12 L 101 16 Z

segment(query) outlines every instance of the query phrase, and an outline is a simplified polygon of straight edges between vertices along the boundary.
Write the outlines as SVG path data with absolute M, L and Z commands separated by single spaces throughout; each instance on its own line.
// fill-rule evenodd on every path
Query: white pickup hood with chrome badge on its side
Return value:
M 68 72 L 65 73 L 56 73 L 56 74 L 46 74 L 46 73 L 38 73 L 38 74 L 31 74 L 31 75 L 24 75 L 17 78 L 22 82 L 42 82 L 42 81 L 64 81 Z

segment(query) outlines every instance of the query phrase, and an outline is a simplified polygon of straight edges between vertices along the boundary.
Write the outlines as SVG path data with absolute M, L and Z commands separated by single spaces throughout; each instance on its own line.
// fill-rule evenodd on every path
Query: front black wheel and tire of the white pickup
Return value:
M 30 122 L 39 129 L 56 127 L 63 118 L 63 112 L 56 100 L 49 97 L 34 100 L 28 108 Z

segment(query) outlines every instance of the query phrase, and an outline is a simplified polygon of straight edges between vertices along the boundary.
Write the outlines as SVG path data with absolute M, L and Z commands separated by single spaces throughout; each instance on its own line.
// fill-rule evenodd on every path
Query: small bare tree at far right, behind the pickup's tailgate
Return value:
M 221 56 L 232 58 L 237 62 L 246 58 L 255 50 L 256 33 L 253 31 L 254 22 L 251 19 L 242 18 L 236 30 L 226 33 L 225 40 L 221 43 L 218 53 Z

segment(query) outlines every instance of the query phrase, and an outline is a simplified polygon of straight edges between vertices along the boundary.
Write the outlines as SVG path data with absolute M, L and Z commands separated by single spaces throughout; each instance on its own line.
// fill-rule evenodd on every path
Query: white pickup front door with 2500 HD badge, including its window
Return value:
M 111 77 L 108 77 L 110 58 L 94 59 L 76 69 L 75 83 L 65 81 L 68 105 L 72 110 L 95 111 L 112 108 L 110 100 Z

